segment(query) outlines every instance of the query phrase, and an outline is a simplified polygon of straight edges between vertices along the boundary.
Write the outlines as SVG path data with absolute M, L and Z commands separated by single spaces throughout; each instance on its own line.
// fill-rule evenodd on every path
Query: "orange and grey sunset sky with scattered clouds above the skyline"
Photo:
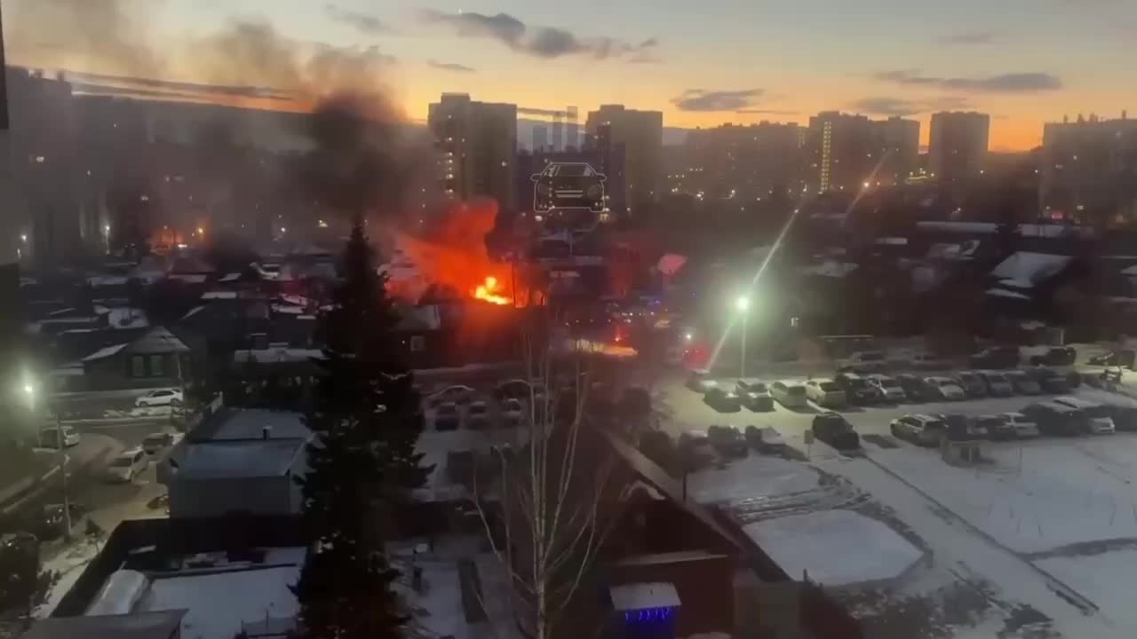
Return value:
M 415 3 L 424 2 L 424 3 Z M 473 2 L 473 3 L 471 3 Z M 119 36 L 26 28 L 34 6 L 117 11 Z M 922 122 L 991 115 L 991 148 L 1040 143 L 1043 123 L 1137 117 L 1137 0 L 3 0 L 14 64 L 183 82 L 273 86 L 211 51 L 214 34 L 258 24 L 291 50 L 363 56 L 413 119 L 445 91 L 583 114 L 600 103 L 662 110 L 666 126 L 797 122 L 820 110 Z M 39 16 L 42 18 L 42 15 Z M 16 24 L 14 24 L 14 20 Z M 43 20 L 40 20 L 43 22 Z M 51 24 L 51 23 L 49 23 Z M 92 28 L 89 25 L 94 24 Z M 25 28 L 22 28 L 25 27 Z M 28 32 L 32 32 L 28 34 Z M 122 68 L 142 43 L 161 64 Z M 108 43 L 110 42 L 110 43 Z M 229 51 L 229 50 L 225 50 Z M 304 55 L 304 53 L 297 53 Z M 202 59 L 209 59 L 208 72 Z M 240 65 L 234 65 L 240 66 Z M 256 74 L 254 74 L 256 75 Z M 352 75 L 356 77 L 356 75 Z

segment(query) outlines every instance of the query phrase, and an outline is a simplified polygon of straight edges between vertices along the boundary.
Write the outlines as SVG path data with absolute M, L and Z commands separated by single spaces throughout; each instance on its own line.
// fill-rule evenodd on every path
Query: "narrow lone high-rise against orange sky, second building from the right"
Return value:
M 979 176 L 987 159 L 991 117 L 974 111 L 943 111 L 931 116 L 928 173 L 941 184 L 965 183 Z

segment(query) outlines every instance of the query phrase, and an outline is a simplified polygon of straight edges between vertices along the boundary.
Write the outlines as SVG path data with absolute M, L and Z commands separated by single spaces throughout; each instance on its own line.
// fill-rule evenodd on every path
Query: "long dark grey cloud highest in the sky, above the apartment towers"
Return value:
M 518 53 L 538 58 L 588 56 L 598 60 L 629 58 L 642 63 L 652 59 L 652 51 L 659 44 L 655 38 L 639 43 L 614 38 L 581 38 L 563 28 L 530 26 L 509 14 L 448 14 L 426 9 L 420 15 L 424 23 L 449 26 L 462 38 L 497 40 Z

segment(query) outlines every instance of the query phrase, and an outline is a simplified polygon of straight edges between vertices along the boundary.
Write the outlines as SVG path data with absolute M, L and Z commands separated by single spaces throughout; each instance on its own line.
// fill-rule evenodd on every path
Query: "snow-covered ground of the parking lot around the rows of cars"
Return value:
M 1070 395 L 1135 405 L 1090 388 Z M 810 453 L 804 463 L 752 454 L 690 480 L 696 499 L 727 506 L 787 571 L 808 570 L 833 584 L 880 582 L 843 558 L 860 556 L 869 566 L 913 557 L 907 542 L 926 554 L 888 586 L 848 596 L 870 637 L 1135 634 L 1137 612 L 1123 595 L 1137 579 L 1135 433 L 985 442 L 980 464 L 955 467 L 936 449 L 888 437 L 889 422 L 910 413 L 1014 412 L 1047 396 L 843 410 L 862 435 L 883 435 L 870 439 L 860 458 L 805 445 L 820 412 L 812 404 L 719 413 L 678 376 L 658 384 L 656 397 L 672 434 L 769 425 Z M 890 530 L 861 525 L 849 513 Z M 857 536 L 872 540 L 856 548 L 835 541 Z

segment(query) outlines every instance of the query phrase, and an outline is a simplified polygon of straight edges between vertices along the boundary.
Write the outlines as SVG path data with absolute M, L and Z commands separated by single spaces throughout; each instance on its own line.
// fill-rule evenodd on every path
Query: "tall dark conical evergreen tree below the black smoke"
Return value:
M 397 637 L 407 621 L 383 555 L 385 501 L 421 486 L 414 445 L 422 431 L 410 371 L 393 348 L 397 315 L 357 219 L 343 282 L 326 318 L 327 346 L 308 425 L 301 524 L 312 549 L 293 591 L 307 636 Z

